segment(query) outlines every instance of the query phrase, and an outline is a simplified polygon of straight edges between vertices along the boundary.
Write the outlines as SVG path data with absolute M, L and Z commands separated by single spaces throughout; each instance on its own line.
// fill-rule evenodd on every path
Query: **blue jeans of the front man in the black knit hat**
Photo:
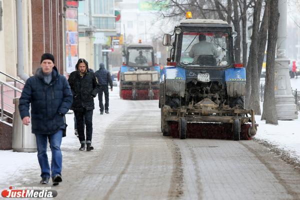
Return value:
M 62 155 L 60 150 L 62 130 L 58 130 L 51 135 L 35 134 L 37 144 L 37 159 L 41 170 L 41 177 L 50 177 L 50 166 L 47 156 L 48 136 L 50 142 L 50 149 L 52 152 L 51 160 L 51 176 L 61 175 Z

